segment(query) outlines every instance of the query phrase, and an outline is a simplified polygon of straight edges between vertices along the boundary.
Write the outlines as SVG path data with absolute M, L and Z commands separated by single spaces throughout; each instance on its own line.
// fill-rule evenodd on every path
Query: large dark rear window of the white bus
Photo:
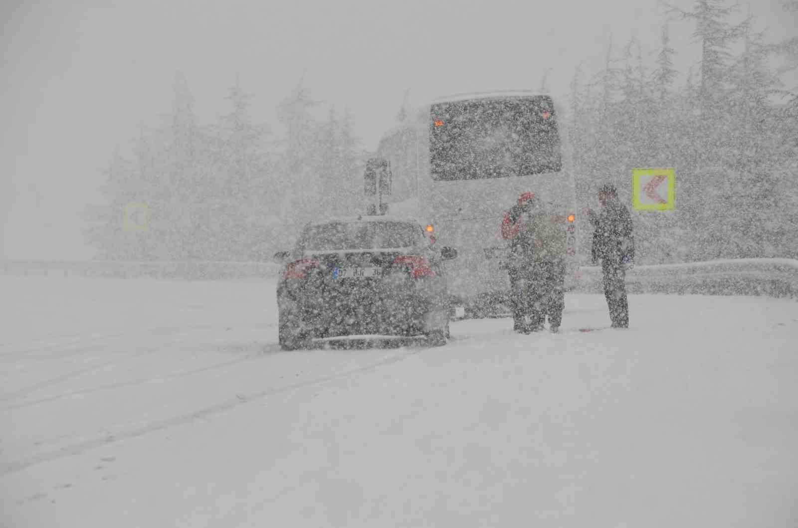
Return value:
M 560 141 L 551 97 L 502 97 L 433 104 L 433 179 L 504 178 L 559 171 Z

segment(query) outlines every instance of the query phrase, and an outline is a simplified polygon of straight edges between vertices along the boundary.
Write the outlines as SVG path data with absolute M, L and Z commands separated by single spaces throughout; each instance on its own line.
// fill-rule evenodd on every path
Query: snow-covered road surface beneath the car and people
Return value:
M 798 525 L 796 301 L 282 353 L 271 281 L 0 286 L 0 526 Z

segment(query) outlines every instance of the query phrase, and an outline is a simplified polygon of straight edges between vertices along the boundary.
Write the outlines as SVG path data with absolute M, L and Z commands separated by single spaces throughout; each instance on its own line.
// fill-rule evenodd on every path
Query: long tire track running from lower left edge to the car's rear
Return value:
M 279 345 L 271 345 L 267 349 L 267 353 L 270 349 L 276 352 Z M 182 415 L 173 416 L 172 418 L 167 418 L 164 420 L 157 420 L 150 424 L 146 424 L 144 426 L 140 426 L 137 428 L 129 428 L 128 430 L 118 431 L 116 433 L 105 435 L 102 438 L 95 438 L 95 439 L 87 439 L 81 442 L 74 443 L 73 445 L 61 447 L 55 451 L 45 451 L 39 455 L 33 455 L 26 459 L 18 460 L 16 462 L 9 462 L 9 463 L 2 463 L 0 464 L 0 476 L 8 475 L 10 473 L 15 473 L 17 471 L 22 471 L 27 467 L 35 466 L 39 463 L 50 462 L 57 459 L 62 459 L 65 457 L 79 455 L 84 451 L 89 451 L 90 449 L 94 449 L 96 447 L 103 447 L 107 446 L 112 443 L 117 443 L 122 440 L 136 438 L 138 436 L 148 435 L 152 432 L 162 431 L 167 428 L 172 428 L 178 425 L 188 424 L 193 420 L 199 420 L 206 418 L 207 416 L 213 416 L 215 414 L 219 414 L 222 412 L 226 412 L 231 410 L 232 408 L 238 407 L 239 405 L 251 403 L 257 400 L 262 400 L 268 396 L 275 396 L 278 394 L 282 394 L 283 392 L 291 392 L 297 390 L 299 388 L 310 387 L 316 384 L 323 384 L 328 381 L 338 380 L 342 378 L 346 378 L 348 376 L 353 376 L 360 372 L 368 372 L 369 370 L 373 370 L 375 368 L 379 368 L 382 366 L 386 366 L 389 364 L 398 363 L 400 361 L 405 360 L 408 357 L 415 356 L 418 353 L 427 350 L 425 348 L 418 348 L 418 349 L 405 349 L 402 353 L 397 353 L 392 356 L 386 357 L 380 361 L 374 361 L 369 364 L 362 365 L 357 368 L 350 368 L 349 370 L 345 370 L 342 372 L 335 372 L 333 374 L 328 374 L 326 376 L 319 376 L 312 380 L 305 380 L 299 381 L 294 384 L 288 384 L 283 387 L 279 388 L 271 388 L 261 392 L 255 392 L 255 394 L 251 394 L 250 396 L 240 397 L 236 396 L 235 400 L 229 400 L 223 402 L 221 404 L 212 405 L 211 407 L 200 409 L 199 411 L 194 412 L 187 412 Z

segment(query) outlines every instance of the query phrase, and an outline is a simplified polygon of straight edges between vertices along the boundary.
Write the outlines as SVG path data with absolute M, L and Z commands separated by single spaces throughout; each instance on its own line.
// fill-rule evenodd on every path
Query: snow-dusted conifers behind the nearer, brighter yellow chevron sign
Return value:
M 722 0 L 669 13 L 701 45 L 688 72 L 674 69 L 667 23 L 659 49 L 610 45 L 598 73 L 575 72 L 579 195 L 613 181 L 631 203 L 632 168 L 675 167 L 677 210 L 635 214 L 638 262 L 798 257 L 798 97 L 780 80 L 798 38 L 769 42 Z

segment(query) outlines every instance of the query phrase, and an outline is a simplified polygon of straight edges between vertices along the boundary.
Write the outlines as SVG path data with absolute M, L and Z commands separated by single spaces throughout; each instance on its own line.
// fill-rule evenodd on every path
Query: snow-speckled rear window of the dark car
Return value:
M 325 223 L 306 228 L 306 250 L 370 250 L 417 244 L 420 228 L 402 222 Z

